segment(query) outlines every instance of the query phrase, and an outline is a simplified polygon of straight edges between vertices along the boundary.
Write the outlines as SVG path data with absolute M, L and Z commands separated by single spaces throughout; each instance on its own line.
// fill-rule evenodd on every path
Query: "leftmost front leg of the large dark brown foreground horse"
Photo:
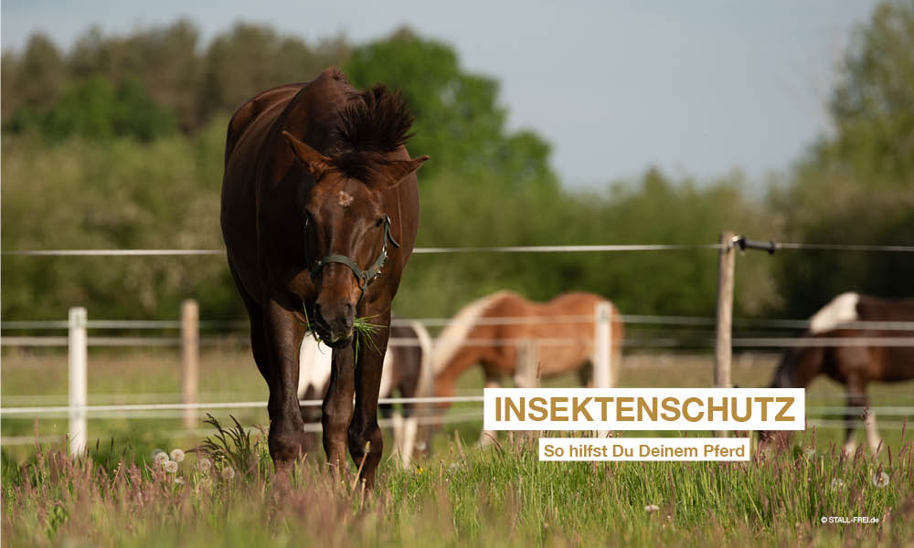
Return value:
M 304 326 L 294 311 L 276 300 L 268 300 L 264 308 L 264 333 L 272 373 L 267 441 L 273 464 L 282 471 L 296 458 L 303 457 L 307 448 L 298 406 L 298 356 Z

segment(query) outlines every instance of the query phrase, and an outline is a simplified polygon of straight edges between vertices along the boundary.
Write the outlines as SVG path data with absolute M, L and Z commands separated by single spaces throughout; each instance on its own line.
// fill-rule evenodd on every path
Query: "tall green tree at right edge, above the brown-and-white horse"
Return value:
M 845 55 L 830 101 L 834 135 L 819 140 L 772 193 L 785 237 L 838 244 L 914 243 L 914 2 L 877 6 Z M 804 316 L 835 294 L 914 294 L 908 253 L 786 252 L 786 312 Z

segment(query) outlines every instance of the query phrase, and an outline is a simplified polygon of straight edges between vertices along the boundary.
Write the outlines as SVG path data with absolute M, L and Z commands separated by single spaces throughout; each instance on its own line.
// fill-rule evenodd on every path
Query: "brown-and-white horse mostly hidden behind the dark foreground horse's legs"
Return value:
M 391 341 L 384 356 L 384 370 L 381 373 L 381 387 L 378 397 L 426 397 L 431 395 L 431 337 L 429 332 L 416 321 L 398 321 L 390 326 Z M 323 398 L 330 381 L 331 351 L 313 337 L 305 337 L 300 354 L 298 396 L 303 400 Z M 395 409 L 392 404 L 381 404 L 381 414 L 393 421 L 394 447 L 404 467 L 409 466 L 412 454 L 417 448 L 419 416 L 417 412 L 428 407 L 416 403 L 403 404 Z M 315 407 L 303 406 L 304 422 L 320 420 Z

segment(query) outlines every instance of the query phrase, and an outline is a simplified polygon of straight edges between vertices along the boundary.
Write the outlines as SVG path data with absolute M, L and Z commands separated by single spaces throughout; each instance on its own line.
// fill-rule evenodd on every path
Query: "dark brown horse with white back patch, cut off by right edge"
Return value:
M 845 385 L 847 406 L 867 407 L 866 385 L 871 381 L 897 382 L 914 379 L 914 346 L 890 346 L 861 342 L 853 344 L 854 338 L 909 339 L 914 342 L 914 328 L 904 324 L 879 322 L 914 322 L 914 299 L 877 299 L 858 293 L 842 293 L 813 315 L 810 328 L 804 337 L 815 339 L 838 339 L 834 345 L 827 341 L 815 341 L 809 346 L 791 348 L 783 353 L 781 365 L 771 381 L 772 388 L 805 388 L 819 374 L 826 374 L 832 380 Z M 888 329 L 891 328 L 891 329 Z M 844 341 L 842 341 L 844 340 Z M 854 419 L 859 412 L 845 415 L 845 452 L 853 453 Z M 880 438 L 876 427 L 876 415 L 866 413 L 866 440 L 870 449 L 876 451 Z M 771 437 L 765 432 L 762 439 Z

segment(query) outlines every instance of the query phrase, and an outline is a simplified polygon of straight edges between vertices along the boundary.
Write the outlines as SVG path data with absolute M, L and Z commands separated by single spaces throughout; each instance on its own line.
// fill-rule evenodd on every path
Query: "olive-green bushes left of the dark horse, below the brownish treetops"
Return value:
M 152 143 L 27 137 L 3 146 L 2 248 L 219 248 L 219 164 L 228 119 L 194 140 Z M 241 317 L 225 258 L 4 257 L 4 319 L 174 319 L 200 300 L 207 318 Z

